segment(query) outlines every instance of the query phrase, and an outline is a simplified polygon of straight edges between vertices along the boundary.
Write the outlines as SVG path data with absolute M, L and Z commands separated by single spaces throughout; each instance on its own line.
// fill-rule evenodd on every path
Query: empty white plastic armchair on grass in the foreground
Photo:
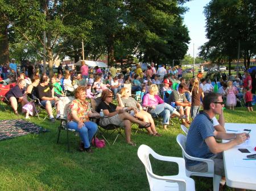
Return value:
M 155 159 L 162 161 L 170 161 L 179 165 L 179 173 L 175 176 L 158 176 L 152 172 L 149 155 Z M 150 147 L 142 144 L 138 149 L 138 157 L 146 168 L 147 180 L 150 185 L 150 190 L 179 190 L 193 191 L 195 190 L 195 181 L 186 176 L 185 160 L 179 157 L 162 156 L 155 153 Z

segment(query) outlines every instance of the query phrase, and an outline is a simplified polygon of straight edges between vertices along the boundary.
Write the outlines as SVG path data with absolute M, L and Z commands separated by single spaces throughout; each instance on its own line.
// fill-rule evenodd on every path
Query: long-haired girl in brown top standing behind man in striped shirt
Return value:
M 199 79 L 193 78 L 191 80 L 192 87 L 189 90 L 192 93 L 192 101 L 191 101 L 191 118 L 194 119 L 196 115 L 199 113 L 201 101 L 200 98 L 204 98 L 203 89 L 199 86 Z

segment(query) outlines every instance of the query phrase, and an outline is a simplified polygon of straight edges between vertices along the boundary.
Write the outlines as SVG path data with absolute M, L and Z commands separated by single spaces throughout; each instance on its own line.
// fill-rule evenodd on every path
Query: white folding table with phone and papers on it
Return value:
M 250 139 L 239 146 L 224 151 L 224 167 L 226 175 L 226 185 L 232 188 L 243 188 L 256 190 L 256 160 L 243 160 L 246 155 L 255 154 L 256 147 L 256 124 L 247 123 L 225 123 L 227 133 L 248 132 L 250 129 Z M 222 140 L 223 143 L 229 140 Z M 238 148 L 246 148 L 251 153 L 242 153 Z

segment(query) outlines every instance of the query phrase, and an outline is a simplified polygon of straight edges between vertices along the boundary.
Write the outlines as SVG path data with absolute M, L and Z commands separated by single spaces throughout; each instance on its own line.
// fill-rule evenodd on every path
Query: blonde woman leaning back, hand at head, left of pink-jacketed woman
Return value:
M 129 96 L 128 88 L 122 88 L 120 90 L 120 94 L 117 94 L 117 101 L 120 107 L 131 107 L 132 110 L 130 114 L 134 117 L 140 119 L 141 121 L 151 123 L 151 126 L 146 128 L 149 135 L 161 136 L 155 129 L 155 123 L 152 116 L 147 113 L 147 111 L 143 110 L 141 104 Z

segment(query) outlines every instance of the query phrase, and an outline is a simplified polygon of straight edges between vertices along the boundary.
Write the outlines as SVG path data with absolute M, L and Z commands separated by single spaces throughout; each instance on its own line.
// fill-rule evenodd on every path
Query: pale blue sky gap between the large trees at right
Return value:
M 205 16 L 204 6 L 210 0 L 193 0 L 184 4 L 189 10 L 184 15 L 184 24 L 188 27 L 189 36 L 191 38 L 188 44 L 188 52 L 193 56 L 193 44 L 195 44 L 195 57 L 199 53 L 198 48 L 203 45 L 207 39 L 205 38 Z

